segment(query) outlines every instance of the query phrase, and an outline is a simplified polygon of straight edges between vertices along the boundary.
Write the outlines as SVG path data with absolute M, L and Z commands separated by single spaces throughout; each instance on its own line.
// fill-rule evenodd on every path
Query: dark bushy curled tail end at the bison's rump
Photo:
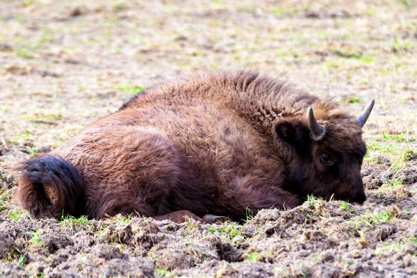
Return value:
M 52 155 L 39 156 L 17 168 L 17 201 L 34 218 L 79 217 L 84 211 L 83 175 L 74 165 Z

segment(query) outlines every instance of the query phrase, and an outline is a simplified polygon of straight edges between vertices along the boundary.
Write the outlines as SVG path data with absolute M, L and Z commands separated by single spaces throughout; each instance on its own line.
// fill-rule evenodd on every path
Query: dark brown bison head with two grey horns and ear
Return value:
M 353 117 L 332 104 L 318 103 L 304 115 L 277 122 L 277 138 L 286 142 L 289 152 L 288 190 L 300 197 L 316 195 L 362 204 L 366 145 L 361 127 L 373 105 L 372 100 L 359 117 Z

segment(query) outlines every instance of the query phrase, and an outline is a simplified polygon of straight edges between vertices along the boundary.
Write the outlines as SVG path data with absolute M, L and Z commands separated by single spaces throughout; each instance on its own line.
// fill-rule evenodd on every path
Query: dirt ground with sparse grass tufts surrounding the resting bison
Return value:
M 0 1 L 0 277 L 417 277 L 417 3 Z M 162 76 L 258 70 L 364 127 L 363 206 L 310 198 L 247 222 L 32 220 L 10 168 Z

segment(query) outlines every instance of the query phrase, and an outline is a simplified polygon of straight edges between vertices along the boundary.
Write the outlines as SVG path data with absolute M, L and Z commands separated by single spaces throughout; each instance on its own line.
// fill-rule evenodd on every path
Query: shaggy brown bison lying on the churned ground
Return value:
M 35 218 L 138 213 L 241 220 L 307 195 L 363 203 L 353 117 L 286 83 L 220 72 L 159 83 L 20 167 L 17 199 Z

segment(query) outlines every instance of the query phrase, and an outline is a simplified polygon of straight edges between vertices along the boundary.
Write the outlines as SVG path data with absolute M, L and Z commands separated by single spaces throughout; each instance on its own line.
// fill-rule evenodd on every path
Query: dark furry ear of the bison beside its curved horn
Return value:
M 281 120 L 275 124 L 278 138 L 284 140 L 296 149 L 301 149 L 309 138 L 309 131 L 301 121 Z

